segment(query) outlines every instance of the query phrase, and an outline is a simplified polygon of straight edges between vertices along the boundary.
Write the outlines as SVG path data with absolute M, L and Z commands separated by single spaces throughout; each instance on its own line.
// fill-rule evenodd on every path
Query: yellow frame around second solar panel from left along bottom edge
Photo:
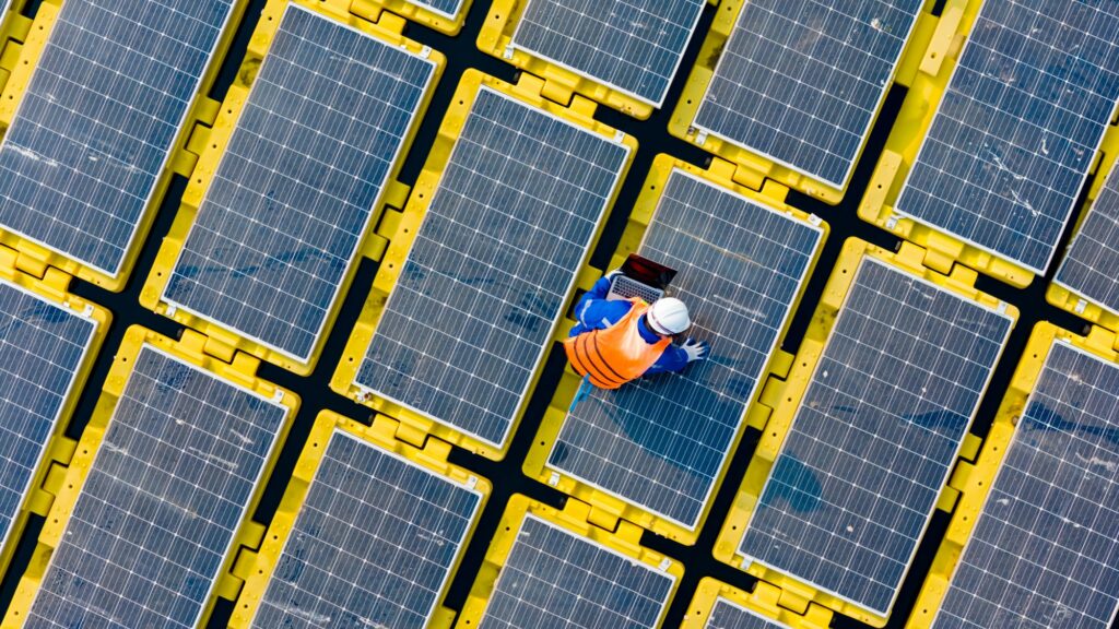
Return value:
M 454 563 L 448 571 L 446 578 L 440 589 L 435 602 L 433 614 L 429 620 L 429 629 L 449 629 L 454 620 L 454 611 L 441 607 L 446 590 L 459 565 L 478 522 L 481 518 L 482 509 L 492 491 L 489 480 L 469 470 L 448 462 L 451 445 L 445 441 L 429 439 L 422 448 L 401 441 L 396 436 L 399 422 L 382 414 L 373 417 L 370 425 L 363 424 L 349 417 L 339 415 L 332 411 L 319 412 L 307 443 L 295 462 L 295 470 L 292 479 L 288 484 L 280 507 L 276 509 L 272 523 L 263 537 L 263 543 L 256 551 L 243 551 L 235 569 L 235 574 L 245 581 L 245 586 L 241 591 L 234 605 L 233 617 L 229 627 L 242 629 L 251 627 L 260 605 L 264 599 L 269 582 L 280 562 L 291 531 L 295 526 L 295 520 L 303 508 L 303 503 L 310 491 L 311 484 L 318 473 L 319 466 L 326 454 L 327 445 L 335 433 L 354 438 L 363 443 L 377 448 L 382 453 L 388 454 L 399 461 L 404 461 L 413 467 L 430 471 L 435 476 L 446 479 L 463 488 L 470 489 L 479 496 L 479 505 L 474 511 L 473 520 L 468 528 L 462 546 Z

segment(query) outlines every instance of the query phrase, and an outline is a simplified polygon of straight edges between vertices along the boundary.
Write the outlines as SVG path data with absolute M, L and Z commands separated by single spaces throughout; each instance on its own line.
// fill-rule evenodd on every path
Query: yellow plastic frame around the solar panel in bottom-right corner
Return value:
M 1018 417 L 1033 396 L 1034 385 L 1044 370 L 1050 348 L 1054 344 L 1065 344 L 1104 362 L 1119 364 L 1119 338 L 1111 330 L 1091 326 L 1085 336 L 1078 336 L 1047 321 L 1034 326 L 981 451 L 971 462 L 961 461 L 952 475 L 951 486 L 959 492 L 959 500 L 944 538 L 933 556 L 929 574 L 913 603 L 906 629 L 927 629 L 940 612 L 987 496 L 1014 441 Z

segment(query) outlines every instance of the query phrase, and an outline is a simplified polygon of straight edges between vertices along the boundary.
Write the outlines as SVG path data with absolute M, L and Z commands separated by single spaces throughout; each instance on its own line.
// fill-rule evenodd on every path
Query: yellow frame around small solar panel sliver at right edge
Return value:
M 1096 170 L 1096 178 L 1088 190 L 1088 199 L 1080 209 L 1079 215 L 1076 212 L 1073 213 L 1075 226 L 1073 227 L 1072 240 L 1069 241 L 1068 246 L 1063 251 L 1057 251 L 1054 255 L 1053 260 L 1056 262 L 1054 269 L 1059 269 L 1061 264 L 1065 263 L 1069 253 L 1072 251 L 1073 243 L 1080 237 L 1084 220 L 1088 219 L 1088 215 L 1092 213 L 1096 204 L 1099 203 L 1100 193 L 1103 190 L 1103 187 L 1108 185 L 1108 181 L 1112 177 L 1119 178 L 1119 160 L 1116 159 L 1116 153 L 1119 152 L 1119 132 L 1107 133 L 1103 138 L 1101 150 L 1103 151 L 1103 159 Z M 1059 259 L 1060 261 L 1057 262 Z M 1092 301 L 1087 295 L 1080 294 L 1073 288 L 1059 281 L 1056 275 L 1053 276 L 1053 281 L 1045 289 L 1045 301 L 1065 312 L 1071 312 L 1081 319 L 1087 319 L 1090 323 L 1119 332 L 1119 312 L 1111 310 L 1102 303 Z

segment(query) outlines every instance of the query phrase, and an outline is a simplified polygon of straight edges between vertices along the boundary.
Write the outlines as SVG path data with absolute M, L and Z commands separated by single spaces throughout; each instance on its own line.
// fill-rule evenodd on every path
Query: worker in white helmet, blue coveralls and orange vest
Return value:
M 652 306 L 641 299 L 606 300 L 611 271 L 575 306 L 579 322 L 564 340 L 567 359 L 584 384 L 618 388 L 645 375 L 680 372 L 689 363 L 707 357 L 707 344 L 673 338 L 692 327 L 683 301 L 666 297 Z

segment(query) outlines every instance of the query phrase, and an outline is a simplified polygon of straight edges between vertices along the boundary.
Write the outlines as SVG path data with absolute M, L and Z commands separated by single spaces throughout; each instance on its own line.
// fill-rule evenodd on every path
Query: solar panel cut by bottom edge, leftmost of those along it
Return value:
M 143 346 L 28 623 L 197 625 L 285 416 Z

